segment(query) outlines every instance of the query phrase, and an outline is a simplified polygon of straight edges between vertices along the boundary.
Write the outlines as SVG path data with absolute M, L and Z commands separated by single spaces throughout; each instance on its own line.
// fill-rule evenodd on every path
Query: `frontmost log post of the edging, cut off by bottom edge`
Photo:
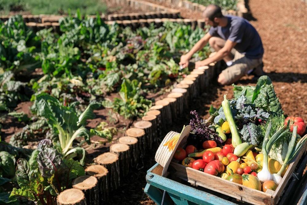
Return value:
M 86 205 L 84 193 L 79 189 L 66 189 L 56 197 L 57 205 Z

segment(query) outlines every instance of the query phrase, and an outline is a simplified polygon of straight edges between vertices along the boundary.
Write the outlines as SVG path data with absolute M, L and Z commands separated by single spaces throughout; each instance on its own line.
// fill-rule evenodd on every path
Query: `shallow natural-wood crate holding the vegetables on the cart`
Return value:
M 275 205 L 278 203 L 279 197 L 282 195 L 286 184 L 288 183 L 297 163 L 303 153 L 306 151 L 306 143 L 301 152 L 297 155 L 296 160 L 290 164 L 286 174 L 282 178 L 282 182 L 278 185 L 276 191 L 267 190 L 266 192 L 251 189 L 241 184 L 233 183 L 220 177 L 204 173 L 185 167 L 181 164 L 171 162 L 170 167 L 176 170 L 173 175 L 185 180 L 193 185 L 205 187 L 212 191 L 231 196 L 240 201 L 257 204 L 257 205 Z

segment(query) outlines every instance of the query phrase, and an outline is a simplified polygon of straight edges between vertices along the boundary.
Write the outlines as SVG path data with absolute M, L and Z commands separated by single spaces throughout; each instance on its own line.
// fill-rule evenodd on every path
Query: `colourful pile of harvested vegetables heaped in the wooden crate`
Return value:
M 260 77 L 256 86 L 233 86 L 234 98 L 224 95 L 219 108 L 211 106 L 206 122 L 191 112 L 191 135 L 174 159 L 252 189 L 275 191 L 305 147 L 304 120 L 285 118 L 268 76 Z

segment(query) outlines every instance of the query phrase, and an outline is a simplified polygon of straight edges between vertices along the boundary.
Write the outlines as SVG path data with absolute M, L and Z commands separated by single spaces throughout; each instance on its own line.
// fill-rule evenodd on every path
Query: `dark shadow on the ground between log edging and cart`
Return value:
M 201 116 L 208 112 L 209 106 L 217 98 L 218 85 L 212 85 L 206 93 L 203 93 L 191 104 L 190 108 L 186 109 L 185 115 L 181 118 L 175 119 L 173 126 L 157 139 L 157 142 L 153 144 L 153 148 L 144 153 L 144 158 L 142 163 L 136 165 L 140 167 L 138 169 L 134 168 L 130 170 L 130 175 L 128 175 L 122 182 L 119 189 L 112 191 L 109 196 L 109 202 L 107 204 L 155 204 L 150 200 L 146 194 L 144 194 L 144 187 L 146 186 L 146 172 L 150 167 L 152 167 L 156 162 L 154 161 L 154 156 L 157 148 L 159 147 L 162 139 L 169 131 L 181 132 L 183 125 L 188 125 L 190 123 L 190 111 L 196 110 Z

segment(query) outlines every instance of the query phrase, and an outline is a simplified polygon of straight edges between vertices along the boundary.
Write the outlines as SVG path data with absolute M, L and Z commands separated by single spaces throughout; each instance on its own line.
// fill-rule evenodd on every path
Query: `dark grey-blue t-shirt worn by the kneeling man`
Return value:
M 226 15 L 227 26 L 211 26 L 209 34 L 236 42 L 235 50 L 247 58 L 256 59 L 263 55 L 261 38 L 256 29 L 244 18 Z

